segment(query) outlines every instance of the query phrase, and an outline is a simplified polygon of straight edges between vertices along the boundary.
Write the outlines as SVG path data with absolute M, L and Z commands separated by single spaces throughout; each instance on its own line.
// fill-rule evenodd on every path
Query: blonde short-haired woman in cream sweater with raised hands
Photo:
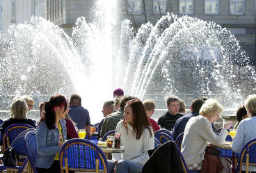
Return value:
M 186 124 L 182 140 L 182 155 L 189 170 L 201 170 L 207 142 L 216 146 L 223 144 L 227 136 L 227 129 L 230 128 L 232 122 L 225 123 L 224 129 L 218 135 L 211 127 L 211 123 L 217 120 L 222 112 L 221 104 L 214 99 L 207 99 L 199 111 L 200 115 L 191 117 Z

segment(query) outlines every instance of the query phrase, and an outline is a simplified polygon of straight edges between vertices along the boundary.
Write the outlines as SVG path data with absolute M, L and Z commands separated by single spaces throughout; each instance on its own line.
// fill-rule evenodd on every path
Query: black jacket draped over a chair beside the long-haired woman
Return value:
M 182 173 L 181 158 L 175 142 L 170 140 L 149 150 L 150 159 L 143 166 L 142 173 Z

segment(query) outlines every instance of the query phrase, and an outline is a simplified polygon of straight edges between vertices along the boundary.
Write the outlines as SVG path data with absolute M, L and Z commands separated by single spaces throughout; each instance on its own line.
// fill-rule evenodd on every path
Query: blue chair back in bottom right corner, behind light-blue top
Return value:
M 249 169 L 249 166 L 256 165 L 256 138 L 253 138 L 246 142 L 240 150 L 238 156 L 238 170 L 242 172 L 242 165 L 246 165 L 246 170 Z

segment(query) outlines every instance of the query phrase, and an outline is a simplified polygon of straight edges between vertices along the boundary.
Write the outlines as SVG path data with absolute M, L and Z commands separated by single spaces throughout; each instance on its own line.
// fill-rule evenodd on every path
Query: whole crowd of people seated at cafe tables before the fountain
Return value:
M 201 170 L 204 167 L 207 142 L 216 146 L 223 145 L 232 122 L 223 124 L 223 130 L 216 134 L 214 122 L 223 112 L 223 106 L 215 99 L 198 98 L 191 101 L 191 111 L 186 114 L 186 104 L 175 95 L 166 99 L 167 112 L 156 122 L 152 119 L 156 105 L 153 100 L 141 101 L 137 97 L 124 95 L 118 88 L 113 93 L 114 99 L 105 101 L 102 108 L 104 119 L 98 124 L 97 138 L 115 130 L 120 133 L 120 144 L 125 146 L 125 153 L 113 154 L 109 160 L 109 172 L 141 172 L 150 156 L 147 151 L 154 148 L 154 132 L 166 129 L 173 133 L 173 140 L 183 133 L 181 153 L 189 170 Z M 29 124 L 37 129 L 38 172 L 61 172 L 58 152 L 63 142 L 79 138 L 78 129 L 86 129 L 90 139 L 90 115 L 81 106 L 81 97 L 72 94 L 67 100 L 62 95 L 53 95 L 49 101 L 40 104 L 38 122 L 26 117 L 35 102 L 29 96 L 15 97 L 10 106 L 10 118 L 0 126 L 3 131 L 10 124 Z M 243 145 L 256 138 L 254 116 L 256 114 L 256 94 L 250 95 L 244 105 L 237 110 L 237 135 L 232 142 L 232 149 L 239 153 Z M 50 136 L 50 138 L 49 138 Z M 51 139 L 47 140 L 47 139 Z

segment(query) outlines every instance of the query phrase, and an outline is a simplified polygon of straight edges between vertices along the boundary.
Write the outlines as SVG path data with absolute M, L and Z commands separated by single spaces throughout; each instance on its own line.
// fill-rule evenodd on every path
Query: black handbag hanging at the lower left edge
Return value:
M 6 151 L 4 151 L 2 158 L 3 165 L 15 167 L 17 165 L 18 160 L 19 155 L 15 148 L 8 147 Z

